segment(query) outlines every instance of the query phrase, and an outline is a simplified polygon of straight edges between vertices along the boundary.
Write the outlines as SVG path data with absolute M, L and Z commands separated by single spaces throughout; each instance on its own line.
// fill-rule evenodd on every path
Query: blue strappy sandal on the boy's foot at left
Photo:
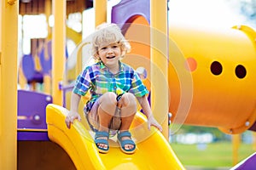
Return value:
M 96 147 L 98 148 L 99 152 L 105 154 L 105 153 L 108 153 L 109 144 L 108 144 L 108 139 L 98 139 L 98 138 L 102 138 L 102 137 L 109 138 L 109 133 L 107 133 L 105 131 L 97 131 L 95 133 L 94 142 L 95 142 Z M 98 144 L 107 144 L 108 147 L 105 149 L 105 148 L 100 147 Z

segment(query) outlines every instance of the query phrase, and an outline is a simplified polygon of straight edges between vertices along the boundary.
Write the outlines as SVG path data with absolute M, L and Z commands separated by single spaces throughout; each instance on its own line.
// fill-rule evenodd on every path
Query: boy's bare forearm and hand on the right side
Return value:
M 153 113 L 151 111 L 151 108 L 150 108 L 150 105 L 148 103 L 148 99 L 147 99 L 146 95 L 144 95 L 143 97 L 137 97 L 137 100 L 140 103 L 140 105 L 142 106 L 144 114 L 148 118 L 148 129 L 150 129 L 151 126 L 154 126 L 154 127 L 157 127 L 160 130 L 160 132 L 162 132 L 162 127 L 154 119 L 154 116 L 153 116 Z

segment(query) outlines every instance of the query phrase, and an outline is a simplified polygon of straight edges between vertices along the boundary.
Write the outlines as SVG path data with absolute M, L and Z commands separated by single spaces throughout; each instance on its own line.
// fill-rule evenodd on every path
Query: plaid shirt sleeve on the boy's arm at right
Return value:
M 148 94 L 148 89 L 144 86 L 136 71 L 134 71 L 131 82 L 131 89 L 129 92 L 134 94 L 136 97 L 143 97 L 144 95 Z

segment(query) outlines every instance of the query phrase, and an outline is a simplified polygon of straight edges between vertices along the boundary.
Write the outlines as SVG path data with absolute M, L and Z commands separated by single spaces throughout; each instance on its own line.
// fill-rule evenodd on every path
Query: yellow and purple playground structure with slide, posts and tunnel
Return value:
M 50 5 L 49 1 L 45 2 Z M 106 1 L 94 2 L 96 26 L 106 21 L 106 3 Z M 141 3 L 144 5 L 143 8 L 139 8 L 142 7 Z M 14 50 L 12 47 L 17 47 L 17 41 L 14 41 L 17 39 L 17 35 L 14 32 L 17 29 L 19 2 L 1 2 L 1 10 L 3 11 L 0 34 L 1 169 L 15 169 L 17 165 L 15 162 L 17 138 L 20 167 L 30 163 L 22 159 L 24 153 L 27 153 L 28 156 L 32 156 L 32 154 L 38 156 L 48 147 L 54 149 L 55 153 L 49 151 L 51 154 L 44 153 L 41 156 L 44 159 L 46 157 L 55 159 L 54 156 L 61 155 L 60 160 L 65 161 L 66 165 L 64 166 L 65 168 L 70 167 L 69 169 L 74 167 L 78 169 L 85 167 L 89 169 L 123 169 L 124 167 L 142 169 L 147 168 L 147 166 L 153 169 L 160 167 L 183 169 L 183 165 L 164 139 L 168 136 L 168 111 L 172 112 L 172 122 L 177 123 L 177 127 L 172 127 L 173 131 L 176 131 L 183 123 L 219 127 L 224 133 L 231 134 L 242 133 L 248 129 L 255 131 L 254 100 L 256 95 L 253 91 L 253 84 L 255 83 L 253 78 L 255 72 L 255 67 L 253 67 L 253 63 L 255 63 L 255 32 L 252 29 L 247 26 L 235 26 L 227 31 L 211 32 L 170 24 L 169 36 L 171 39 L 168 41 L 166 37 L 168 35 L 166 2 L 121 1 L 113 8 L 112 21 L 124 28 L 125 37 L 133 40 L 131 42 L 132 47 L 140 48 L 138 50 L 134 48 L 135 51 L 132 51 L 133 55 L 137 55 L 136 59 L 132 59 L 130 56 L 132 54 L 129 54 L 125 62 L 136 68 L 143 65 L 148 71 L 151 82 L 152 108 L 154 115 L 164 127 L 164 133 L 161 134 L 153 129 L 145 134 L 144 127 L 140 127 L 140 125 L 145 124 L 145 118 L 138 113 L 132 125 L 132 128 L 139 127 L 137 129 L 141 131 L 134 134 L 138 141 L 137 153 L 134 156 L 124 155 L 117 147 L 114 147 L 113 141 L 113 148 L 108 155 L 98 154 L 86 124 L 75 122 L 70 130 L 64 124 L 67 110 L 61 105 L 63 105 L 62 96 L 65 95 L 62 92 L 66 87 L 59 88 L 59 86 L 64 72 L 64 65 L 60 65 L 60 63 L 65 63 L 65 44 L 63 42 L 65 42 L 66 32 L 63 31 L 63 28 L 66 27 L 64 20 L 67 3 L 52 1 L 52 4 L 56 20 L 52 32 L 52 56 L 54 57 L 52 58 L 51 75 L 52 95 L 50 95 L 17 91 L 16 80 L 9 79 L 9 77 L 17 77 L 17 49 Z M 127 26 L 125 23 L 132 24 Z M 153 29 L 149 29 L 149 26 Z M 137 32 L 133 30 L 137 30 Z M 138 34 L 141 34 L 142 31 L 144 36 L 148 35 L 150 38 L 145 39 L 145 37 L 139 36 Z M 12 41 L 8 41 L 9 39 Z M 202 44 L 211 45 L 202 46 Z M 7 59 L 6 56 L 9 58 Z M 166 59 L 166 56 L 169 56 L 169 59 Z M 166 95 L 169 93 L 170 96 Z M 24 106 L 27 102 L 21 99 L 22 94 L 32 95 L 30 102 L 28 102 L 29 105 Z M 16 99 L 15 96 L 18 98 Z M 40 102 L 35 100 L 39 98 Z M 44 103 L 41 103 L 43 100 Z M 35 103 L 31 103 L 32 101 Z M 40 106 L 36 105 L 38 103 Z M 50 103 L 53 104 L 48 105 Z M 48 105 L 47 109 L 46 105 Z M 43 108 L 43 111 L 39 111 L 39 107 Z M 28 110 L 20 111 L 20 108 Z M 29 109 L 32 110 L 29 111 Z M 47 110 L 46 118 L 44 116 L 45 110 Z M 17 111 L 20 111 L 18 116 Z M 21 113 L 34 113 L 34 111 L 43 113 L 43 115 L 20 115 Z M 20 124 L 14 122 L 17 119 Z M 46 127 L 46 122 L 48 127 Z M 36 128 L 33 127 L 35 125 Z M 50 142 L 48 138 L 59 144 L 65 151 Z M 44 142 L 38 144 L 31 141 L 35 139 Z M 152 144 L 157 150 L 149 149 Z M 28 146 L 32 147 L 34 151 L 26 150 Z M 116 157 L 119 157 L 118 161 Z M 32 159 L 32 157 L 29 158 Z M 50 162 L 62 163 L 55 160 Z M 154 162 L 154 165 L 151 162 Z M 40 164 L 39 166 L 47 165 Z M 49 169 L 49 167 L 45 168 Z

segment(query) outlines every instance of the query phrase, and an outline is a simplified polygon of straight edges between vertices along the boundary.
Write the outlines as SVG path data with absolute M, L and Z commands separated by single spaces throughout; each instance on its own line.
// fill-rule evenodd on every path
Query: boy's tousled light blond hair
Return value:
M 116 24 L 104 23 L 96 27 L 96 31 L 92 35 L 91 53 L 95 59 L 98 59 L 98 50 L 100 47 L 108 46 L 111 43 L 118 42 L 121 48 L 121 57 L 131 50 L 130 43 L 125 39 L 119 26 Z

